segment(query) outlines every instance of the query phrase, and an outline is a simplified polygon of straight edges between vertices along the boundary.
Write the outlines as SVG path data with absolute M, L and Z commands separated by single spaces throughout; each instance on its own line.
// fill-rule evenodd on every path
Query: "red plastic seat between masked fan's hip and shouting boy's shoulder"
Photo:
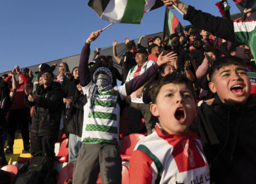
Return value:
M 120 151 L 122 161 L 130 161 L 130 156 L 134 151 L 135 145 L 140 139 L 143 139 L 144 137 L 146 136 L 143 134 L 130 134 L 129 136 L 126 136 L 124 139 L 122 139 L 122 147 Z

